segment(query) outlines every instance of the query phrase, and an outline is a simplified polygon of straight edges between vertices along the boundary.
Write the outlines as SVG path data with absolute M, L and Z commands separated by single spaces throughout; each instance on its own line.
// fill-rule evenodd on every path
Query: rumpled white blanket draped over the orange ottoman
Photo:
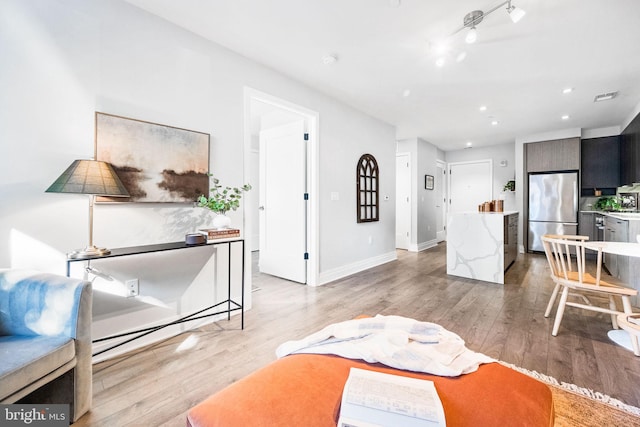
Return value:
M 440 325 L 382 315 L 334 323 L 304 339 L 287 341 L 276 350 L 278 358 L 294 353 L 335 354 L 446 377 L 468 374 L 481 363 L 495 362 L 466 348 L 462 338 Z

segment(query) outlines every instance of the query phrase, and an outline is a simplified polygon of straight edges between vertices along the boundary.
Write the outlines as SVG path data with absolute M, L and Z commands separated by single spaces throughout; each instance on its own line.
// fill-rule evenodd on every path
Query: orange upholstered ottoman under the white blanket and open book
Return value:
M 553 426 L 549 387 L 498 363 L 452 378 L 317 354 L 286 356 L 231 384 L 193 407 L 187 426 L 335 427 L 351 367 L 433 381 L 448 426 Z

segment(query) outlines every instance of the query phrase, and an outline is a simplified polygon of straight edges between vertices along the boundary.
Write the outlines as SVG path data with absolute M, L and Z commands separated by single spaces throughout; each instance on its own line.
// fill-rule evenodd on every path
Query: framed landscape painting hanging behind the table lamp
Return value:
M 100 202 L 189 203 L 209 194 L 207 133 L 96 112 L 95 156 L 130 197 Z

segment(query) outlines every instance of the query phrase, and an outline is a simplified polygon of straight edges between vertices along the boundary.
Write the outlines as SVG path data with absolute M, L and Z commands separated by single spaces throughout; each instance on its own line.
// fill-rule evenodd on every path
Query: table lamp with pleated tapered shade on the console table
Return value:
M 69 258 L 87 258 L 111 253 L 93 244 L 93 204 L 96 196 L 129 197 L 129 192 L 109 163 L 99 160 L 75 160 L 46 190 L 47 193 L 89 195 L 89 246 L 68 254 Z

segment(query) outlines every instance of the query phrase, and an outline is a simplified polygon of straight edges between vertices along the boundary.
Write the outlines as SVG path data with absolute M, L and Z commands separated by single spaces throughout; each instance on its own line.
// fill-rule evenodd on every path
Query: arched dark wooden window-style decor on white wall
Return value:
M 363 154 L 356 168 L 358 222 L 379 220 L 380 173 L 378 162 L 371 154 Z

